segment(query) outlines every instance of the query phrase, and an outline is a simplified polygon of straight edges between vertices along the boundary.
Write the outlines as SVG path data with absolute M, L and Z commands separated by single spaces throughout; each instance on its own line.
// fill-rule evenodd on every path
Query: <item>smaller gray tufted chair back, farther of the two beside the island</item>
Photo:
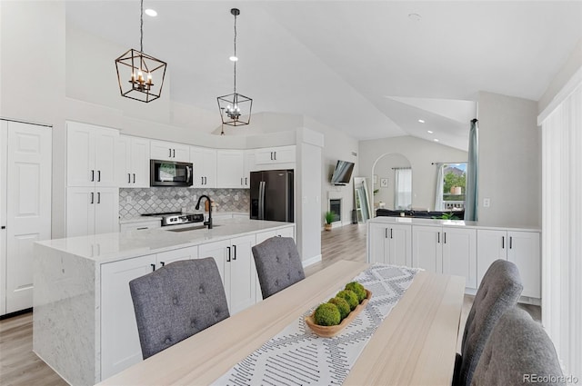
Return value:
M 306 278 L 295 240 L 291 237 L 271 237 L 256 244 L 253 257 L 263 299 Z

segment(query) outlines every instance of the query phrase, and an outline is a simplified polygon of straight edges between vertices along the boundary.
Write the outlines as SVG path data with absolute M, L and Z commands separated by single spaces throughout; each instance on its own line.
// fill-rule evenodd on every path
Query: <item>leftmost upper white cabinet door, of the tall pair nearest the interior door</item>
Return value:
M 88 124 L 66 124 L 67 186 L 95 185 L 95 143 Z

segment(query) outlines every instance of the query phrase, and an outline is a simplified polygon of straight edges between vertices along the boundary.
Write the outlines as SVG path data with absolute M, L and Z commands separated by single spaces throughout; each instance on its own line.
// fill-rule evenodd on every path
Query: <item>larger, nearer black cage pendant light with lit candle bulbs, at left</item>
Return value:
M 141 0 L 139 51 L 128 50 L 115 59 L 119 91 L 126 98 L 152 102 L 162 94 L 166 62 L 144 54 L 144 0 Z

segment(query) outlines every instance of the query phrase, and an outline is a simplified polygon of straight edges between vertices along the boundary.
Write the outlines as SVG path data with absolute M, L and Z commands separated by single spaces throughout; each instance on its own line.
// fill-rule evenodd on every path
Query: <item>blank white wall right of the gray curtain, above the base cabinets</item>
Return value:
M 541 141 L 537 102 L 480 92 L 478 105 L 478 221 L 539 227 Z M 485 198 L 491 202 L 488 208 L 482 205 Z

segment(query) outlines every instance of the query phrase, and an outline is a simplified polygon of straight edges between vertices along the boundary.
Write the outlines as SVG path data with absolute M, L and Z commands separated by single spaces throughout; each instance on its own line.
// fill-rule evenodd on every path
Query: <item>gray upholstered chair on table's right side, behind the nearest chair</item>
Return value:
M 516 264 L 505 260 L 493 262 L 479 285 L 465 324 L 461 354 L 457 354 L 453 385 L 468 386 L 489 334 L 501 315 L 513 308 L 523 285 Z

